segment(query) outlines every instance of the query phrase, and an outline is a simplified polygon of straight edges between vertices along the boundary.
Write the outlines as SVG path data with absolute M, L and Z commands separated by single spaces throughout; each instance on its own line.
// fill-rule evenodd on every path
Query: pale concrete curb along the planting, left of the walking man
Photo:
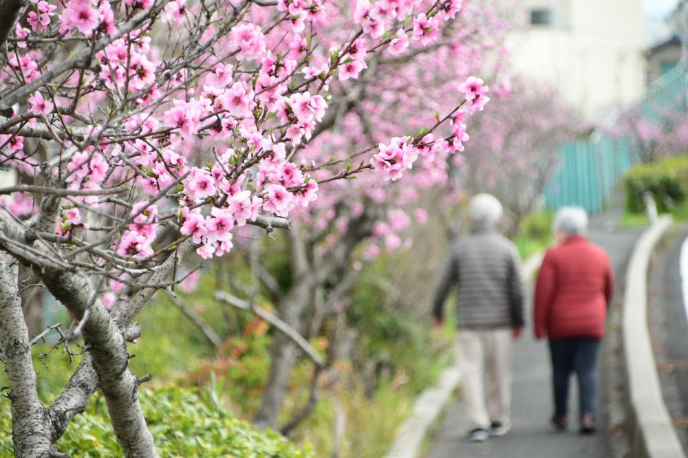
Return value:
M 523 263 L 521 274 L 526 281 L 529 281 L 539 268 L 543 256 L 542 253 L 534 254 Z M 413 413 L 400 426 L 396 439 L 385 458 L 418 458 L 420 446 L 428 428 L 440 415 L 451 393 L 460 382 L 461 372 L 458 367 L 451 366 L 444 369 L 436 386 L 420 393 L 416 404 L 413 404 Z

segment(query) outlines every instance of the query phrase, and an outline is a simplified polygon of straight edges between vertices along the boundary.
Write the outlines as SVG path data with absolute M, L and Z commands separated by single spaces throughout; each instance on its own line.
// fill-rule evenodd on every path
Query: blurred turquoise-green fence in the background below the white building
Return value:
M 639 116 L 651 122 L 667 122 L 663 110 L 670 108 L 674 113 L 686 113 L 686 79 L 686 66 L 679 64 L 654 81 L 638 105 Z M 641 157 L 638 142 L 632 135 L 614 136 L 601 131 L 594 132 L 590 138 L 566 142 L 556 154 L 559 170 L 544 191 L 548 208 L 581 206 L 590 213 L 605 208 L 619 179 Z

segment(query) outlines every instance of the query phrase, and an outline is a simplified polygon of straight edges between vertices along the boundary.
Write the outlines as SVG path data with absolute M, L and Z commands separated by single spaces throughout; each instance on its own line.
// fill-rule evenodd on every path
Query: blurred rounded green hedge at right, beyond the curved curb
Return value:
M 667 157 L 630 169 L 624 179 L 626 210 L 645 211 L 643 194 L 650 192 L 660 212 L 669 212 L 688 197 L 688 157 Z

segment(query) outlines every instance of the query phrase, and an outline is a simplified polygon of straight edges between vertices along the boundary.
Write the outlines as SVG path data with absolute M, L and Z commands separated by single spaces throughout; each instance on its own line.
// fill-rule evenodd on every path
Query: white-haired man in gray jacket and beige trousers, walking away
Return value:
M 441 326 L 447 294 L 452 286 L 458 288 L 456 357 L 464 375 L 473 441 L 506 435 L 511 427 L 512 338 L 519 338 L 524 326 L 520 259 L 514 244 L 495 232 L 501 217 L 502 204 L 492 195 L 471 199 L 470 233 L 451 245 L 433 306 L 436 325 Z

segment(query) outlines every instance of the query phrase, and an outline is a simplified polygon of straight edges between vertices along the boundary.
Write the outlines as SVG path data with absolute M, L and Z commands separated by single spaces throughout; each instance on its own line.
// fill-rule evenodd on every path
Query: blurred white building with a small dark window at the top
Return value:
M 586 122 L 645 89 L 641 0 L 523 0 L 524 30 L 509 44 L 517 72 L 554 84 Z

